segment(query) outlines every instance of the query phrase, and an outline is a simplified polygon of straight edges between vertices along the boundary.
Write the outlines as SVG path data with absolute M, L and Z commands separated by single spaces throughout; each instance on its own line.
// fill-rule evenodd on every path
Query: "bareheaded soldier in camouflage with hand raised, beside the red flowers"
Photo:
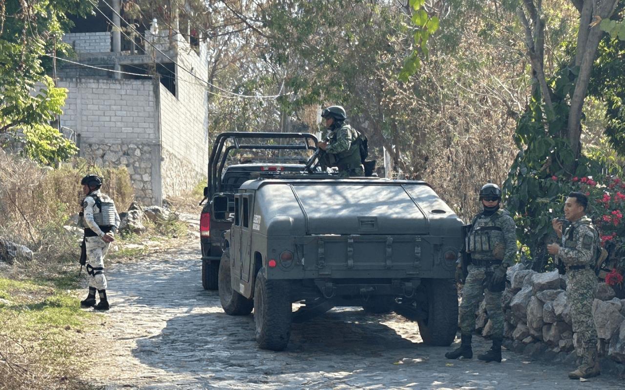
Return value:
M 579 338 L 576 353 L 582 358 L 581 366 L 569 373 L 571 379 L 591 378 L 600 373 L 592 301 L 597 289 L 594 263 L 601 241 L 590 218 L 586 217 L 587 205 L 586 195 L 570 193 L 564 203 L 564 217 L 571 225 L 562 233 L 562 222 L 557 218 L 552 221 L 558 237 L 562 238 L 562 246 L 547 245 L 547 251 L 564 263 L 568 276 L 566 292 L 571 303 L 573 331 Z

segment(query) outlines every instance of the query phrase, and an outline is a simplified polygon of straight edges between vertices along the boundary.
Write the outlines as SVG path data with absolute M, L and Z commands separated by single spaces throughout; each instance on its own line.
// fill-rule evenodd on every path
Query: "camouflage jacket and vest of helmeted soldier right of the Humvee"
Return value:
M 506 210 L 492 215 L 479 213 L 473 219 L 466 247 L 476 260 L 501 260 L 506 266 L 516 256 L 516 225 Z

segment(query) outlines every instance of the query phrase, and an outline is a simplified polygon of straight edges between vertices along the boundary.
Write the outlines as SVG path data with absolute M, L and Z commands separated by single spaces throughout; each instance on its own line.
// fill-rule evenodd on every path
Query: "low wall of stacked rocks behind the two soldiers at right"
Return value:
M 535 358 L 572 355 L 577 344 L 572 328 L 571 305 L 566 294 L 566 275 L 557 271 L 537 273 L 522 264 L 509 268 L 510 281 L 502 296 L 507 348 Z M 484 302 L 477 310 L 476 329 L 491 335 Z M 625 300 L 615 297 L 606 283 L 598 283 L 592 314 L 599 338 L 599 353 L 625 363 Z

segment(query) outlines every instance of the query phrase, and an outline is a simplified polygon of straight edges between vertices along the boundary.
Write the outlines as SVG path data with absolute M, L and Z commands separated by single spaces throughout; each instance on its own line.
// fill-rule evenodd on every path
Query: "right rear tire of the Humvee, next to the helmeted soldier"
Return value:
M 449 346 L 458 329 L 458 293 L 453 279 L 427 279 L 422 286 L 427 297 L 427 318 L 417 320 L 423 342 Z

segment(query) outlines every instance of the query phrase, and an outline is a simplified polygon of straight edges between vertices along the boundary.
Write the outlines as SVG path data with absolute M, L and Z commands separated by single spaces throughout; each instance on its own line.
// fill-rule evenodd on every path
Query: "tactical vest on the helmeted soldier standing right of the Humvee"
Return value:
M 495 222 L 504 213 L 504 210 L 497 210 L 489 217 L 479 214 L 473 220 L 471 232 L 466 238 L 466 247 L 471 251 L 472 258 L 503 260 L 505 252 L 504 233 L 500 227 L 495 225 Z

